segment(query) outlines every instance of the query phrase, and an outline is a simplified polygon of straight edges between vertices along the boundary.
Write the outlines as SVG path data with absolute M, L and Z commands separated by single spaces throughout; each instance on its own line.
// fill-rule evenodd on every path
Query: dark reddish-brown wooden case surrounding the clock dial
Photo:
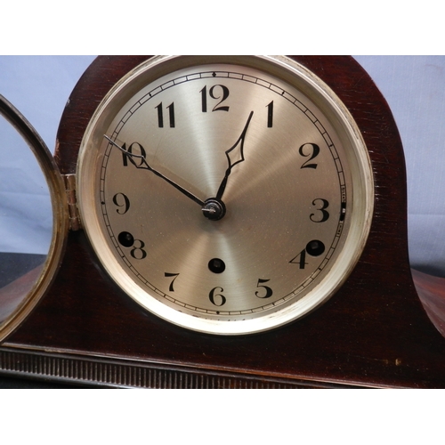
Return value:
M 144 311 L 103 271 L 85 232 L 70 230 L 53 285 L 0 348 L 2 373 L 158 388 L 445 386 L 445 338 L 409 268 L 405 165 L 391 111 L 352 58 L 292 57 L 350 110 L 374 172 L 368 243 L 336 295 L 268 332 L 201 334 Z M 61 117 L 61 174 L 76 174 L 79 145 L 101 99 L 147 58 L 102 56 L 85 71 Z

